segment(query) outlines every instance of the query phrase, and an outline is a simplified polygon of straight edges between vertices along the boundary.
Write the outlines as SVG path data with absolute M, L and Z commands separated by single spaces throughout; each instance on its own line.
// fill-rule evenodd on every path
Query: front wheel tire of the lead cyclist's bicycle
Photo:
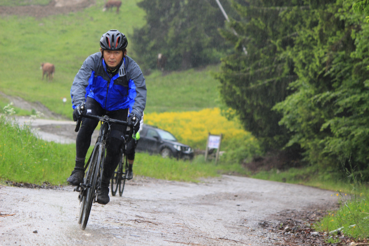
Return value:
M 87 195 L 86 195 L 86 202 L 85 202 L 85 206 L 84 206 L 84 210 L 83 210 L 83 216 L 82 216 L 82 225 L 81 225 L 81 229 L 84 230 L 86 228 L 87 222 L 88 222 L 88 217 L 89 214 L 91 212 L 91 207 L 92 204 L 94 202 L 95 199 L 95 191 L 96 191 L 96 183 L 98 180 L 98 176 L 99 176 L 99 169 L 101 166 L 101 161 L 102 161 L 102 154 L 103 154 L 103 144 L 99 145 L 99 151 L 97 151 L 95 153 L 95 156 L 93 158 L 93 161 L 91 162 L 90 165 L 91 166 L 91 178 L 88 180 L 86 180 L 87 185 Z

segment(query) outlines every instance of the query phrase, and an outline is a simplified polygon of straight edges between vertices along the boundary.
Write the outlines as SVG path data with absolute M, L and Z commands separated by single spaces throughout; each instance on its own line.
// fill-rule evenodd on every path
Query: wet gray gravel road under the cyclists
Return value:
M 284 245 L 261 223 L 284 211 L 330 209 L 332 191 L 223 175 L 200 183 L 135 177 L 94 204 L 83 231 L 72 186 L 0 189 L 2 245 Z M 37 233 L 35 233 L 37 231 Z M 310 244 L 309 244 L 310 245 Z

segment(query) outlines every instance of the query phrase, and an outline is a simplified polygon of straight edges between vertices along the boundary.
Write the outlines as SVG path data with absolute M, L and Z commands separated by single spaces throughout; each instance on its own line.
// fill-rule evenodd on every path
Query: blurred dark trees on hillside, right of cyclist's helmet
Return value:
M 228 1 L 224 8 L 230 12 Z M 145 70 L 156 68 L 158 54 L 167 58 L 166 69 L 189 69 L 219 63 L 229 53 L 218 32 L 224 17 L 215 1 L 144 0 L 146 25 L 134 30 L 134 50 Z

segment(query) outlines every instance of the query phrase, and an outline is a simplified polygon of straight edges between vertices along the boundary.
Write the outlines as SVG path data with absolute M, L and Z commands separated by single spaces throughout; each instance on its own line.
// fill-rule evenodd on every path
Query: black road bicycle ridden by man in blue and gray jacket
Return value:
M 84 111 L 83 104 L 80 106 L 80 110 L 81 112 Z M 74 188 L 74 191 L 79 192 L 78 200 L 81 207 L 79 210 L 78 224 L 81 224 L 82 230 L 86 228 L 88 217 L 91 212 L 91 207 L 93 203 L 96 203 L 98 190 L 101 188 L 101 178 L 104 171 L 104 160 L 106 152 L 106 139 L 110 134 L 110 124 L 114 123 L 123 126 L 130 126 L 131 130 L 128 133 L 128 139 L 126 141 L 130 141 L 132 139 L 132 136 L 134 136 L 133 126 L 129 125 L 126 121 L 110 119 L 108 116 L 97 116 L 91 114 L 81 115 L 80 119 L 76 123 L 76 132 L 78 132 L 79 130 L 83 117 L 99 120 L 101 122 L 101 127 L 99 131 L 99 136 L 94 146 L 94 150 L 84 167 L 84 170 L 86 170 L 87 168 L 88 170 L 83 179 L 83 183 L 80 183 Z

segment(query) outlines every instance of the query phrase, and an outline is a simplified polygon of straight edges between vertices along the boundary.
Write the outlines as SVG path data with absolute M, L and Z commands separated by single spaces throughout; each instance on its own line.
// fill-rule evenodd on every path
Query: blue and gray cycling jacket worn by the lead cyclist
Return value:
M 129 108 L 140 119 L 146 106 L 146 92 L 144 75 L 135 61 L 125 56 L 119 72 L 110 78 L 101 52 L 83 62 L 70 89 L 73 109 L 88 96 L 107 111 Z

